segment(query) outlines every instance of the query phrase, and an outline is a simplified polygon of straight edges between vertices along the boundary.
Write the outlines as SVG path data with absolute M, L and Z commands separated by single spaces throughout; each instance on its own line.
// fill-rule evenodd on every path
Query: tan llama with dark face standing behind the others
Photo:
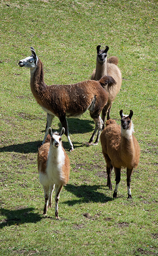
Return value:
M 117 93 L 120 91 L 122 78 L 121 71 L 117 66 L 118 58 L 116 56 L 112 56 L 107 59 L 107 51 L 109 47 L 106 46 L 105 50 L 100 50 L 100 47 L 100 45 L 97 46 L 97 63 L 96 68 L 93 70 L 91 79 L 98 81 L 103 76 L 111 76 L 116 81 L 116 85 L 109 89 L 108 101 L 102 110 L 102 129 L 104 129 L 105 117 L 107 115 L 107 120 L 110 119 L 112 102 L 115 100 Z M 107 86 L 104 86 L 104 89 L 107 90 Z

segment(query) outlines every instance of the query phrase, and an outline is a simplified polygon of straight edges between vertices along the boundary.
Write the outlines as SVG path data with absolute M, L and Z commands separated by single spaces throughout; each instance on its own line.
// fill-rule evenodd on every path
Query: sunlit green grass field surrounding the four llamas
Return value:
M 158 255 L 157 0 L 1 0 L 0 17 L 0 255 Z M 71 171 L 56 221 L 54 202 L 42 216 L 37 172 L 46 113 L 30 90 L 30 71 L 18 62 L 33 46 L 48 85 L 80 82 L 95 68 L 98 44 L 119 58 L 123 77 L 111 118 L 119 124 L 121 109 L 134 112 L 141 155 L 133 199 L 122 169 L 113 200 L 101 144 L 86 146 L 94 129 L 87 111 L 68 120 L 73 152 L 63 135 Z M 52 129 L 60 128 L 55 118 Z

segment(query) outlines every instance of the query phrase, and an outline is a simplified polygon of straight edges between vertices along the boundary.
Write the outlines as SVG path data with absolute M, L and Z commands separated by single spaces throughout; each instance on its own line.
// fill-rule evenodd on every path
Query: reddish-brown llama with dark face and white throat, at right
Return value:
M 127 190 L 128 198 L 132 198 L 130 190 L 131 174 L 133 169 L 138 166 L 140 148 L 138 141 L 133 135 L 134 126 L 131 121 L 133 111 L 130 110 L 129 116 L 124 116 L 120 111 L 121 126 L 116 124 L 115 120 L 106 121 L 106 127 L 101 133 L 100 141 L 102 144 L 102 153 L 107 163 L 107 186 L 112 190 L 111 172 L 114 167 L 116 175 L 116 186 L 113 198 L 117 197 L 118 185 L 121 179 L 121 167 L 127 169 Z

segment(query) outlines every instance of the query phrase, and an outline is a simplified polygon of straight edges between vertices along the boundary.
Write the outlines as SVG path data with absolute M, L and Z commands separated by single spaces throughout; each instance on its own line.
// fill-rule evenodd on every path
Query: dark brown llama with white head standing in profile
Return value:
M 30 68 L 31 91 L 37 103 L 47 112 L 46 133 L 42 144 L 46 140 L 48 128 L 51 126 L 53 118 L 57 116 L 65 128 L 70 151 L 74 150 L 66 117 L 79 117 L 89 110 L 95 123 L 95 129 L 88 145 L 93 144 L 94 136 L 98 131 L 94 142 L 94 145 L 97 145 L 103 124 L 100 113 L 108 99 L 108 93 L 103 89 L 103 86 L 107 85 L 107 90 L 109 90 L 116 83 L 115 80 L 105 76 L 99 81 L 88 80 L 76 84 L 47 86 L 44 82 L 42 62 L 38 59 L 33 47 L 31 47 L 31 52 L 31 56 L 19 61 L 19 66 Z

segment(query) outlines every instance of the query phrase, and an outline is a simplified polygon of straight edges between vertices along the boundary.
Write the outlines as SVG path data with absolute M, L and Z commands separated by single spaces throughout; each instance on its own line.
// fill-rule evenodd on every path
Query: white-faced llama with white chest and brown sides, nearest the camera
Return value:
M 51 207 L 51 199 L 54 188 L 55 195 L 55 217 L 58 219 L 58 202 L 63 185 L 69 181 L 70 160 L 62 147 L 61 136 L 64 134 L 63 127 L 60 133 L 52 133 L 48 129 L 45 143 L 38 150 L 38 172 L 40 183 L 44 189 L 45 205 L 43 214 L 46 215 L 48 207 Z

